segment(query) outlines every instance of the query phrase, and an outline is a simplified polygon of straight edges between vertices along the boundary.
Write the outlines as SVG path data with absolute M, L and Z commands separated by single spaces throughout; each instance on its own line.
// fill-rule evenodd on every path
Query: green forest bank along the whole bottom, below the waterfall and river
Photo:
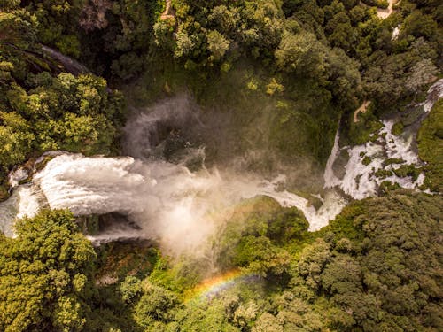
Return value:
M 207 262 L 189 267 L 184 257 L 178 264 L 158 259 L 144 280 L 128 275 L 93 286 L 96 254 L 72 215 L 42 212 L 18 222 L 16 239 L 0 242 L 0 321 L 11 330 L 128 330 L 131 316 L 135 331 L 439 330 L 441 203 L 439 196 L 391 192 L 346 206 L 323 232 L 307 236 L 297 210 L 265 197 L 246 201 L 214 245 L 224 248 L 225 268 L 254 276 L 210 300 L 183 297 L 194 282 L 170 289 L 179 276 L 192 279 L 190 271 L 207 274 Z

